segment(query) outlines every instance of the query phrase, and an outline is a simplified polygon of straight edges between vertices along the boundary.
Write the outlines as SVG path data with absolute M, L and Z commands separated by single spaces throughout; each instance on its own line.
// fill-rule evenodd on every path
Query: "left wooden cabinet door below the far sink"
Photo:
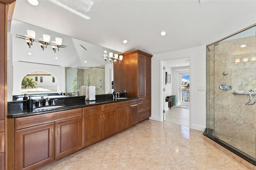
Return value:
M 120 107 L 116 109 L 116 128 L 118 131 L 122 131 L 128 128 L 128 114 L 129 114 L 129 106 Z

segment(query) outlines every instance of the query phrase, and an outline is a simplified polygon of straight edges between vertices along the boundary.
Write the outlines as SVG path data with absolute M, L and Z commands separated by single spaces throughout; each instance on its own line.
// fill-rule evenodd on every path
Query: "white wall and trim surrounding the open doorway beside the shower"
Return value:
M 163 121 L 164 99 L 162 89 L 163 61 L 190 57 L 190 128 L 204 131 L 206 127 L 206 92 L 198 87 L 206 87 L 206 46 L 155 54 L 152 57 L 152 111 L 150 119 Z M 161 69 L 160 69 L 161 68 Z M 160 74 L 161 73 L 161 74 Z

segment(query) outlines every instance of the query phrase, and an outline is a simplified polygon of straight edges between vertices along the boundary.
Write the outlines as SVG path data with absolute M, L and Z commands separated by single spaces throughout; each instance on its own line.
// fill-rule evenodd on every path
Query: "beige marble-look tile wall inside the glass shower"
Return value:
M 245 105 L 249 95 L 233 94 L 256 87 L 255 42 L 255 36 L 250 36 L 223 40 L 216 46 L 208 47 L 207 128 L 214 129 L 214 136 L 255 143 L 255 105 Z M 241 48 L 242 44 L 247 46 Z M 248 62 L 244 62 L 244 58 L 248 58 Z M 228 74 L 224 75 L 224 72 Z M 221 90 L 221 84 L 230 84 L 232 89 Z M 252 103 L 255 97 L 252 96 Z

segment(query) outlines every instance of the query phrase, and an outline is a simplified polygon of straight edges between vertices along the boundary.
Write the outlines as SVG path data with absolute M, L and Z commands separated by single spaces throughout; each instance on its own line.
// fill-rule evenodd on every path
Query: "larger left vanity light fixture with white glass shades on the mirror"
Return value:
M 47 45 L 51 45 L 54 53 L 56 52 L 56 50 L 59 51 L 60 47 L 61 48 L 67 47 L 66 45 L 61 45 L 62 38 L 59 38 L 59 37 L 56 37 L 55 41 L 50 42 L 51 36 L 47 34 L 43 34 L 43 38 L 36 39 L 36 32 L 34 32 L 33 30 L 27 30 L 27 35 L 25 36 L 20 36 L 16 34 L 16 37 L 26 40 L 28 47 L 31 47 L 31 45 L 33 45 L 33 42 L 39 42 L 40 46 L 42 47 L 42 50 L 47 48 Z

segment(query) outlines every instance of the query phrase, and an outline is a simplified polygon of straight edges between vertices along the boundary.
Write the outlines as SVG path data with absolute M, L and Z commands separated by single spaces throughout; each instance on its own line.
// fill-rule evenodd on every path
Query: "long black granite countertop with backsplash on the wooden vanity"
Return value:
M 35 101 L 33 102 L 34 109 L 27 109 L 26 106 L 23 107 L 22 101 L 13 101 L 13 102 L 8 102 L 7 118 L 18 118 L 18 117 L 26 117 L 26 116 L 32 116 L 32 115 L 40 115 L 40 114 L 52 113 L 56 111 L 66 111 L 66 110 L 77 109 L 82 107 L 128 101 L 132 99 L 138 99 L 138 97 L 128 97 L 128 99 L 113 99 L 111 95 L 96 95 L 95 101 L 85 101 L 84 96 L 64 97 L 64 98 L 58 98 L 58 100 L 55 101 L 55 105 L 64 105 L 64 106 L 60 108 L 55 108 L 55 109 L 43 109 L 43 107 L 41 109 L 38 109 L 35 107 Z

